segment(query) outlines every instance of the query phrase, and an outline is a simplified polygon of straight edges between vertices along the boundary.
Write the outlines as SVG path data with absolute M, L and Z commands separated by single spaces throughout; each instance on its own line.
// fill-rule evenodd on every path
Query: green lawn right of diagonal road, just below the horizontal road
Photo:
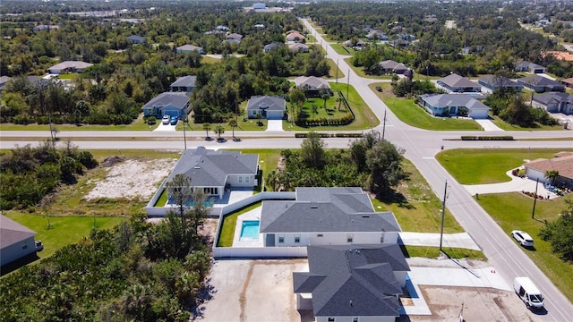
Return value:
M 436 159 L 459 183 L 484 184 L 509 182 L 506 172 L 523 165 L 525 159 L 551 158 L 560 151 L 545 148 L 458 148 L 442 151 Z

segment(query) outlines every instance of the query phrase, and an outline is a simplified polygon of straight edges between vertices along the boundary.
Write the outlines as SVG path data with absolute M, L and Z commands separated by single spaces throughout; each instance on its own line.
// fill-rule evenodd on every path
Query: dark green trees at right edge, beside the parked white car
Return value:
M 573 201 L 567 200 L 568 208 L 552 222 L 545 222 L 539 230 L 543 241 L 552 243 L 552 250 L 566 261 L 573 261 Z

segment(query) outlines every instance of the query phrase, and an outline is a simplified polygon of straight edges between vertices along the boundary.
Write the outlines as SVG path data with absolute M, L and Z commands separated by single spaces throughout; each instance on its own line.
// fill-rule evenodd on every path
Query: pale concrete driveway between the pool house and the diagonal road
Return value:
M 440 233 L 402 232 L 400 240 L 403 245 L 440 247 Z M 443 247 L 481 250 L 467 233 L 444 233 Z

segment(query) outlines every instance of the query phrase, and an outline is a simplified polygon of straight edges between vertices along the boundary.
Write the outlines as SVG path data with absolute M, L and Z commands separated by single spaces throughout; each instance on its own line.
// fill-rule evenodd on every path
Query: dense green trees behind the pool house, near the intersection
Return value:
M 270 172 L 266 180 L 273 190 L 295 187 L 362 187 L 378 198 L 389 196 L 393 187 L 407 179 L 401 166 L 404 151 L 377 132 L 370 132 L 346 150 L 327 149 L 312 133 L 300 151 L 283 150 L 284 167 Z

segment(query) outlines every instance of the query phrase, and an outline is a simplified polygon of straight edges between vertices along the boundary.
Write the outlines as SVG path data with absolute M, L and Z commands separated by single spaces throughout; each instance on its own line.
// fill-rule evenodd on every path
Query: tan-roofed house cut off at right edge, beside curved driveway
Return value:
M 525 167 L 526 176 L 529 179 L 554 184 L 558 187 L 573 188 L 573 152 L 560 152 L 551 159 L 538 158 L 527 162 Z M 559 173 L 554 182 L 545 177 L 545 173 L 548 171 Z

